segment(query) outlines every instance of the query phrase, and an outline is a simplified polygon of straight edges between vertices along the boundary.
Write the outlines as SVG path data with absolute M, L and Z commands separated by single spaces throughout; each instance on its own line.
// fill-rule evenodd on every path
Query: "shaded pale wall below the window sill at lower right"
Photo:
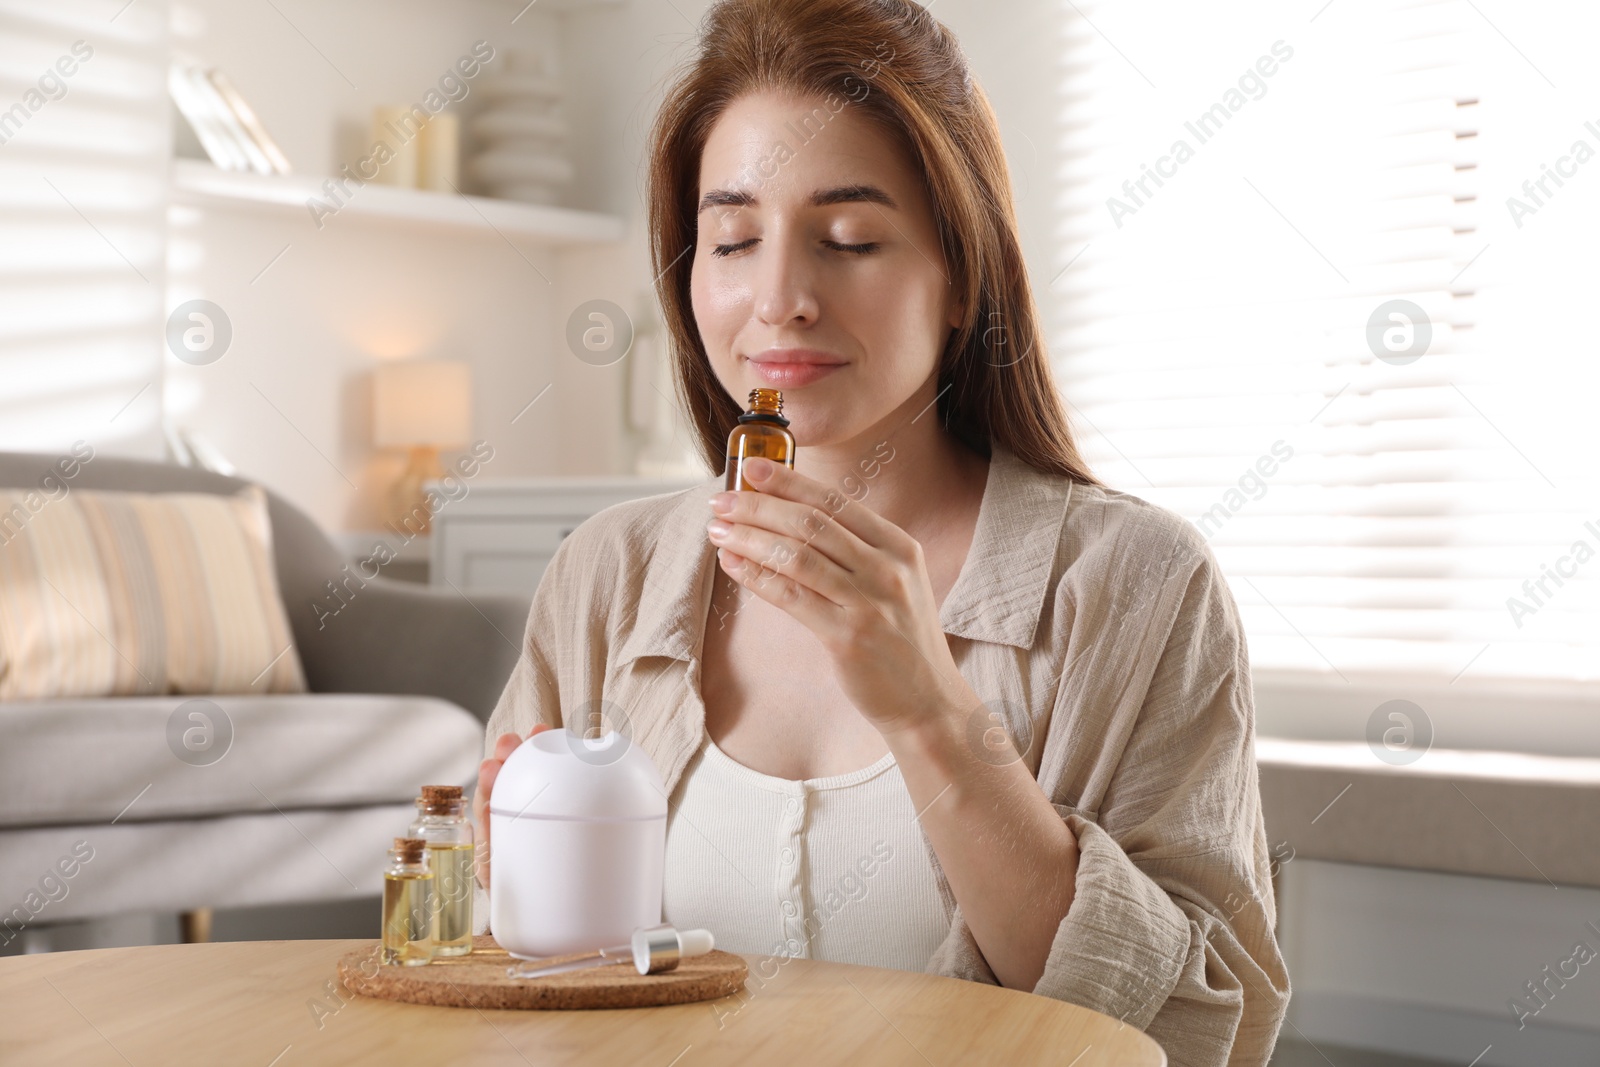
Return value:
M 1579 941 L 1600 949 L 1587 926 L 1600 889 L 1304 859 L 1285 865 L 1280 907 L 1285 1037 L 1451 1064 L 1483 1054 L 1478 1067 L 1600 1062 L 1600 960 L 1550 982 L 1525 1027 L 1509 1005 L 1533 1006 L 1525 984 Z

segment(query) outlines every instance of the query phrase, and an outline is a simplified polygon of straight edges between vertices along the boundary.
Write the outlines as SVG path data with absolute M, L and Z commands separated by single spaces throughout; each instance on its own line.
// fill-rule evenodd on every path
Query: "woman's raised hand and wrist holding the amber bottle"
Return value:
M 915 537 L 782 464 L 747 459 L 744 475 L 758 493 L 712 499 L 718 563 L 816 633 L 845 696 L 882 734 L 979 705 L 950 656 Z

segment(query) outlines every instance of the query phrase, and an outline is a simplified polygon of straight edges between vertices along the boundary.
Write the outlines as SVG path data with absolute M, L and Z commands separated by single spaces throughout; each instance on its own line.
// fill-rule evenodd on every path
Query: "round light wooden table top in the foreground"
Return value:
M 245 941 L 0 958 L 0 1064 L 1061 1064 L 1165 1067 L 1115 1019 L 933 974 L 744 957 L 741 993 L 618 1011 L 370 1000 L 334 961 L 363 941 Z

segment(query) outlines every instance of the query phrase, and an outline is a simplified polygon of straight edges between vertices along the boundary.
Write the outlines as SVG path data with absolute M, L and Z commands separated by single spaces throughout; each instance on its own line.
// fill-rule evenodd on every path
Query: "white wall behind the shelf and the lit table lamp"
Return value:
M 275 10 L 182 0 L 174 48 L 234 80 L 296 173 L 330 174 L 365 147 L 371 107 L 419 99 L 474 42 L 490 42 L 504 62 L 512 48 L 558 50 L 563 24 L 579 18 L 539 5 L 514 24 L 522 6 L 282 0 Z M 634 72 L 618 54 L 611 66 Z M 579 144 L 595 142 L 582 112 L 592 107 L 590 90 L 610 85 L 608 70 L 560 69 Z M 467 118 L 482 102 L 482 93 L 469 91 L 453 107 Z M 570 206 L 608 208 L 592 195 L 597 160 L 579 163 Z M 462 184 L 475 190 L 466 174 Z M 626 205 L 626 197 L 618 202 Z M 474 430 L 496 448 L 485 477 L 630 467 L 634 438 L 622 430 L 627 362 L 581 363 L 563 331 L 566 314 L 594 298 L 648 315 L 650 275 L 632 253 L 642 248 L 637 230 L 618 246 L 550 251 L 491 230 L 349 214 L 325 219 L 318 230 L 309 213 L 232 206 L 174 205 L 170 226 L 168 304 L 219 304 L 234 341 L 205 366 L 166 358 L 168 416 L 325 528 L 378 528 L 378 498 L 402 462 L 370 446 L 370 373 L 379 360 L 472 365 Z M 518 418 L 546 386 L 550 390 Z

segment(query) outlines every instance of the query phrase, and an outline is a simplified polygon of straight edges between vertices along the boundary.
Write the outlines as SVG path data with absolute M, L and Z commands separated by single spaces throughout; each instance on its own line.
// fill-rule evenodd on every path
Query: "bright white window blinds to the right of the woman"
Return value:
M 1058 378 L 1259 670 L 1600 673 L 1595 21 L 1064 5 Z

